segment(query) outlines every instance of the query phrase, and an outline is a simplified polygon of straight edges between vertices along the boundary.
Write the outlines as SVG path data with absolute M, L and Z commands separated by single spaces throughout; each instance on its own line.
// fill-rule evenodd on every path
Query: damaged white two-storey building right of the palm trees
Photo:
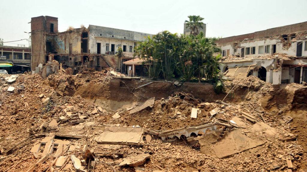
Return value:
M 227 77 L 257 76 L 273 83 L 307 81 L 307 22 L 221 38 Z

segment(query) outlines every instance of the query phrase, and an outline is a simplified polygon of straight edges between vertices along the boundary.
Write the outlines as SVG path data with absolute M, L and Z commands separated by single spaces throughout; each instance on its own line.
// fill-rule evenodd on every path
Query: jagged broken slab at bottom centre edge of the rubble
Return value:
M 130 155 L 126 158 L 122 159 L 122 162 L 119 163 L 119 166 L 140 166 L 145 163 L 146 159 L 148 159 L 150 155 L 146 154 L 138 154 L 138 155 Z

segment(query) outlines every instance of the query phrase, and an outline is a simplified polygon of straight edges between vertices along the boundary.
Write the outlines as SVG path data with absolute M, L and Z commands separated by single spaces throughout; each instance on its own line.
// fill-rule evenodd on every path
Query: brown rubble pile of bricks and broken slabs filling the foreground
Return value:
M 112 71 L 0 75 L 0 171 L 304 171 L 293 118 L 258 101 L 271 84 L 226 81 L 236 101 L 129 90 L 144 101 L 112 110 L 87 99 L 109 98 Z

